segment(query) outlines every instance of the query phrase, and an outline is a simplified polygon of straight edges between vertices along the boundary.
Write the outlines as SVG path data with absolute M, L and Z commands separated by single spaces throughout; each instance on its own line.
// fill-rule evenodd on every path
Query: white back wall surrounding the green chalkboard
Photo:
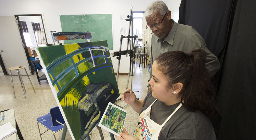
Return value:
M 120 14 L 130 15 L 131 6 L 133 11 L 145 11 L 148 4 L 154 0 L 95 0 L 95 1 L 78 1 L 78 0 L 0 0 L 0 14 L 1 16 L 13 16 L 20 14 L 42 14 L 45 25 L 46 38 L 50 42 L 50 31 L 61 31 L 59 15 L 71 14 L 104 14 L 112 13 L 113 18 L 113 38 L 114 51 L 119 51 L 120 47 Z M 169 6 L 171 0 L 164 0 Z M 1 19 L 0 19 L 1 20 Z M 129 22 L 123 23 L 125 35 L 128 35 Z M 127 40 L 122 42 L 122 50 L 126 49 Z M 114 71 L 117 72 L 118 60 L 116 57 L 112 58 Z M 128 57 L 122 56 L 120 63 L 121 73 L 129 71 L 130 60 Z

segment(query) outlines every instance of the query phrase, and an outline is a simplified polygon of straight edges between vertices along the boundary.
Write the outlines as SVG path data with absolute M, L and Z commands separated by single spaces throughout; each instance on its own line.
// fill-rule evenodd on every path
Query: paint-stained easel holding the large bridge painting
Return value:
M 92 38 L 91 33 L 90 32 L 56 32 L 56 31 L 51 31 L 51 36 L 52 36 L 52 39 L 54 40 L 54 45 L 60 45 L 59 40 L 87 39 L 87 42 L 91 42 L 91 38 Z M 62 124 L 60 122 L 58 122 L 58 123 Z M 68 127 L 67 127 L 66 123 L 64 123 L 62 125 L 63 125 L 64 128 L 63 128 L 63 131 L 62 131 L 61 140 L 65 140 Z M 104 140 L 101 127 L 97 126 L 97 128 L 99 130 L 101 140 Z M 110 137 L 111 137 L 111 140 L 115 140 L 115 137 L 112 133 L 110 133 Z M 85 140 L 90 140 L 89 134 L 87 135 Z

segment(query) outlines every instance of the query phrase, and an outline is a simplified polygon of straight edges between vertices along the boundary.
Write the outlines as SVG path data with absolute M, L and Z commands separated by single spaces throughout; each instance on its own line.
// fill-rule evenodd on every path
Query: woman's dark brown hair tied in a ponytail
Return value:
M 179 96 L 187 110 L 200 110 L 206 116 L 212 116 L 217 108 L 214 86 L 205 67 L 206 52 L 193 50 L 190 55 L 191 58 L 182 51 L 165 52 L 155 60 L 157 69 L 166 76 L 167 88 L 173 88 L 174 83 L 183 84 Z

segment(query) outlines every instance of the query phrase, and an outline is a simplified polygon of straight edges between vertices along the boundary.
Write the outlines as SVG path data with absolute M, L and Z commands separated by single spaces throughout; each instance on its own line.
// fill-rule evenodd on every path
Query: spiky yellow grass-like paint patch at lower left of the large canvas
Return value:
M 65 106 L 65 100 L 68 99 L 68 102 L 70 102 L 70 105 L 73 106 L 73 101 L 74 101 L 74 106 L 77 106 L 78 100 L 81 98 L 80 93 L 75 89 L 72 88 L 67 95 L 65 96 L 65 98 L 63 98 L 60 102 L 60 105 Z M 68 106 L 68 105 L 66 105 Z

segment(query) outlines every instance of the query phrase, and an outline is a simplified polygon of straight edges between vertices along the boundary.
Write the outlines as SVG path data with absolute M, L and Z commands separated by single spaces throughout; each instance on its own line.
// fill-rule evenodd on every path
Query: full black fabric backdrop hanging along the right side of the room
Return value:
M 218 56 L 218 140 L 256 139 L 256 1 L 182 0 L 179 23 L 193 26 Z

